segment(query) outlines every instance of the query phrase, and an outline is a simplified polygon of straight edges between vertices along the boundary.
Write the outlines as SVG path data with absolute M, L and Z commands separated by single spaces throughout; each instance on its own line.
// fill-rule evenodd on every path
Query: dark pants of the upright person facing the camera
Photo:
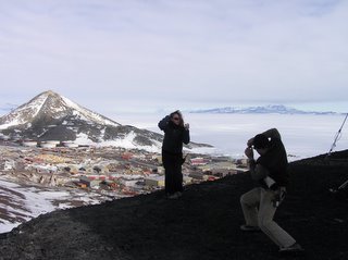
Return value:
M 165 170 L 165 193 L 175 194 L 176 191 L 183 191 L 183 153 L 162 151 L 162 162 Z

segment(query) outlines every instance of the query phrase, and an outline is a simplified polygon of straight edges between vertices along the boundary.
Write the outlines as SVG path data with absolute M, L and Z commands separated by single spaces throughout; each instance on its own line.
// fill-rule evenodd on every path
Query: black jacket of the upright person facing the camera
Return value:
M 159 127 L 164 132 L 162 151 L 182 153 L 183 144 L 187 145 L 189 143 L 189 131 L 184 126 L 174 124 L 170 115 L 159 122 Z

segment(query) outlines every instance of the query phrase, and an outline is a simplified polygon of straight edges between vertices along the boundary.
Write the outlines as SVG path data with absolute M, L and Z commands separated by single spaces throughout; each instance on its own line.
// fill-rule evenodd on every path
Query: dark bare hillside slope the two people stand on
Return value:
M 282 259 L 348 259 L 348 201 L 328 193 L 348 178 L 348 151 L 290 164 L 291 186 L 276 221 L 303 246 Z M 0 239 L 0 259 L 279 259 L 262 233 L 239 231 L 248 174 L 41 215 Z

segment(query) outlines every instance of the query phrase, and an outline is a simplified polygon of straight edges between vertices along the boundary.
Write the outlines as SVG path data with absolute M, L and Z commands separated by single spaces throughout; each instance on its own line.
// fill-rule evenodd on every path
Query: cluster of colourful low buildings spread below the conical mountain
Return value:
M 0 143 L 2 176 L 44 186 L 78 188 L 113 197 L 135 196 L 164 187 L 161 154 L 116 147 L 69 147 Z M 245 160 L 187 156 L 184 183 L 214 181 L 246 171 Z

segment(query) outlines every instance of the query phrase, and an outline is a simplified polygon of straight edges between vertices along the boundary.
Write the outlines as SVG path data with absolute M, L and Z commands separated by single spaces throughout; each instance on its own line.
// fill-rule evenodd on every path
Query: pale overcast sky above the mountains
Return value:
M 0 0 L 0 107 L 348 111 L 346 0 Z

